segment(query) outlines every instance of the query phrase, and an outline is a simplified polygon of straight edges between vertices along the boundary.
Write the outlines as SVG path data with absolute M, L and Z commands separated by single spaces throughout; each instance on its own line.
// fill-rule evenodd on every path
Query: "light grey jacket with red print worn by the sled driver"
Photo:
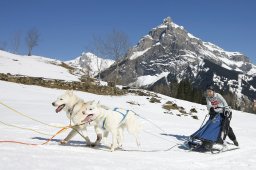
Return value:
M 210 108 L 213 107 L 215 112 L 222 113 L 223 108 L 217 107 L 227 107 L 228 104 L 226 100 L 219 94 L 214 93 L 213 97 L 206 97 L 207 110 L 210 111 Z

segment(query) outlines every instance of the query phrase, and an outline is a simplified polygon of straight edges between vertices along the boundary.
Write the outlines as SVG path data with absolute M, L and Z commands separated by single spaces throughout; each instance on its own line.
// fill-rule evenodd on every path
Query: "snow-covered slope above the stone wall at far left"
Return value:
M 60 66 L 61 61 L 40 57 L 21 56 L 0 50 L 0 73 L 43 77 L 67 81 L 79 81 L 68 69 Z

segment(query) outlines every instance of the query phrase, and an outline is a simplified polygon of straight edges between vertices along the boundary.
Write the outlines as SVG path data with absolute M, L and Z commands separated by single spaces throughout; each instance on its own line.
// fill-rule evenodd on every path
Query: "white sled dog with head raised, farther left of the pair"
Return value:
M 90 102 L 88 102 L 90 103 Z M 71 132 L 67 135 L 65 139 L 63 139 L 60 144 L 66 144 L 70 139 L 72 139 L 78 132 L 80 135 L 85 139 L 86 145 L 88 146 L 95 146 L 99 144 L 102 138 L 102 131 L 97 131 L 95 126 L 95 131 L 97 134 L 97 139 L 95 143 L 91 143 L 88 135 L 86 127 L 89 125 L 88 123 L 84 123 L 83 120 L 85 118 L 85 112 L 82 112 L 82 109 L 85 106 L 84 100 L 77 97 L 73 94 L 73 91 L 66 91 L 63 95 L 57 98 L 56 101 L 52 103 L 53 106 L 57 107 L 56 113 L 64 110 L 66 111 L 66 115 L 70 121 L 77 125 L 73 127 Z M 92 124 L 90 124 L 92 125 Z M 82 133 L 81 133 L 82 131 Z

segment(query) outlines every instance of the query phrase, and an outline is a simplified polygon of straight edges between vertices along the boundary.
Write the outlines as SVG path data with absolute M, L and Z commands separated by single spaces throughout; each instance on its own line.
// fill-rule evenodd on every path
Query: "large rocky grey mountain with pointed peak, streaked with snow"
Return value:
M 170 17 L 142 37 L 118 68 L 119 83 L 150 90 L 161 88 L 167 95 L 171 95 L 174 82 L 188 80 L 194 89 L 214 84 L 223 93 L 232 93 L 237 107 L 249 107 L 256 98 L 256 66 L 248 57 L 202 41 Z M 105 70 L 103 80 L 112 80 L 115 69 L 112 65 Z

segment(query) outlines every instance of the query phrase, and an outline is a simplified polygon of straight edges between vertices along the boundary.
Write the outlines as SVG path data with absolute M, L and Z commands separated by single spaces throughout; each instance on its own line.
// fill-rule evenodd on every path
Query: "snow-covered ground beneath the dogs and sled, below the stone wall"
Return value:
M 63 93 L 63 90 L 48 89 L 0 81 L 0 102 L 26 113 L 27 115 L 51 125 L 68 125 L 64 112 L 55 113 L 51 103 Z M 128 94 L 125 96 L 101 96 L 75 91 L 75 94 L 88 100 L 99 100 L 109 107 L 132 109 L 141 116 L 152 120 L 163 131 L 144 119 L 139 119 L 144 127 L 140 135 L 141 148 L 137 148 L 134 138 L 125 133 L 124 149 L 109 152 L 108 147 L 89 148 L 84 146 L 78 135 L 67 146 L 58 142 L 68 131 L 61 133 L 47 145 L 27 146 L 13 143 L 0 143 L 0 169 L 8 170 L 48 170 L 48 169 L 256 169 L 256 116 L 233 111 L 231 125 L 237 135 L 240 149 L 221 154 L 203 154 L 172 146 L 184 142 L 187 136 L 201 125 L 206 107 L 182 100 L 161 96 L 161 103 L 150 103 L 147 96 Z M 191 116 L 165 114 L 162 105 L 167 101 L 176 102 L 187 111 L 196 108 L 199 120 Z M 137 105 L 131 105 L 133 102 Z M 23 117 L 0 105 L 0 120 L 12 125 L 32 128 L 37 131 L 54 134 L 59 129 L 52 128 Z M 92 127 L 89 137 L 95 140 Z M 161 135 L 165 133 L 165 135 Z M 50 136 L 33 131 L 9 127 L 0 123 L 0 140 L 40 144 Z M 109 136 L 109 143 L 110 143 Z M 229 139 L 227 139 L 229 141 Z M 109 144 L 108 144 L 109 145 Z

